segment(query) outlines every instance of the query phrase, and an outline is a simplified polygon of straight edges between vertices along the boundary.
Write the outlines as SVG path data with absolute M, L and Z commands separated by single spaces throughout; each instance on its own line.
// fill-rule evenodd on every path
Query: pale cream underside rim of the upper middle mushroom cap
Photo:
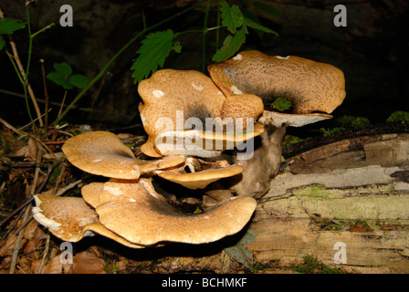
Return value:
M 248 126 L 248 125 L 247 125 Z M 215 157 L 220 152 L 232 149 L 264 132 L 264 125 L 251 120 L 246 130 L 165 130 L 154 142 L 157 152 L 166 155 Z M 239 127 L 237 127 L 239 129 Z

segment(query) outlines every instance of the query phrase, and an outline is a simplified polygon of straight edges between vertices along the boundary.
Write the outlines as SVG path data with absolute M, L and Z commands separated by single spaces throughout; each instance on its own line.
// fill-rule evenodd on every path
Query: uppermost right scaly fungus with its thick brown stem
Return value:
M 261 197 L 281 162 L 281 142 L 286 128 L 331 119 L 330 113 L 345 99 L 341 69 L 302 57 L 267 56 L 258 51 L 241 52 L 208 67 L 210 77 L 225 96 L 254 94 L 271 103 L 278 97 L 292 102 L 290 112 L 264 110 L 257 122 L 265 126 L 251 160 L 242 165 L 243 179 L 231 187 L 239 196 Z

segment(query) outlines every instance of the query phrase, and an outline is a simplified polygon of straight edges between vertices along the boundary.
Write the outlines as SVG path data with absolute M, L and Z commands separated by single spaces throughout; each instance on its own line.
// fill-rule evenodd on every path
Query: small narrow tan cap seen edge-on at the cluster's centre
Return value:
M 214 183 L 220 179 L 235 176 L 243 172 L 243 166 L 230 165 L 218 169 L 208 169 L 200 172 L 178 173 L 159 171 L 156 174 L 167 181 L 182 184 L 189 189 L 205 189 L 210 183 Z

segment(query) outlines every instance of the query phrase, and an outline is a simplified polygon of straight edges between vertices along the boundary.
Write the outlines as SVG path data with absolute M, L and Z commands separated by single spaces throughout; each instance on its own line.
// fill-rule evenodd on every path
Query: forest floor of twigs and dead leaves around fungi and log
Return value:
M 47 135 L 35 135 L 29 130 L 17 130 L 3 123 L 0 129 L 0 274 L 155 274 L 155 273 L 344 273 L 351 272 L 324 265 L 314 256 L 306 255 L 304 263 L 280 266 L 278 261 L 254 263 L 246 266 L 229 257 L 224 245 L 235 243 L 237 236 L 215 244 L 186 247 L 169 245 L 160 248 L 139 250 L 124 247 L 102 236 L 87 237 L 71 245 L 72 264 L 61 261 L 66 248 L 61 240 L 51 235 L 46 228 L 32 218 L 32 196 L 36 193 L 80 196 L 80 188 L 92 181 L 92 176 L 72 166 L 61 152 L 63 143 L 79 134 L 83 127 L 68 126 L 51 129 Z M 362 130 L 341 130 L 322 133 L 313 139 L 290 142 L 284 148 L 283 157 L 289 159 L 303 151 L 343 139 L 385 133 L 408 133 L 409 125 L 388 123 Z M 121 140 L 142 155 L 139 147 L 146 137 L 121 134 Z M 228 246 L 228 245 L 227 245 Z M 188 252 L 186 253 L 186 249 Z M 224 253 L 220 257 L 220 253 Z M 190 269 L 184 266 L 184 256 L 201 257 L 200 265 Z M 215 256 L 217 255 L 217 256 Z M 174 257 L 177 256 L 175 262 Z M 65 257 L 64 257 L 65 258 Z M 205 262 L 203 259 L 205 258 Z M 225 260 L 219 271 L 207 270 L 214 261 Z M 185 270 L 179 267 L 184 266 Z

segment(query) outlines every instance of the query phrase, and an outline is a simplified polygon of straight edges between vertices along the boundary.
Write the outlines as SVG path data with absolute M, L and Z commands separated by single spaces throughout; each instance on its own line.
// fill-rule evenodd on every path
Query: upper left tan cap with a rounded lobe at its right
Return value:
M 141 150 L 152 157 L 168 155 L 166 149 L 162 152 L 163 145 L 157 145 L 155 141 L 163 131 L 168 134 L 172 132 L 173 137 L 204 136 L 196 132 L 206 130 L 206 120 L 215 122 L 218 119 L 225 123 L 226 119 L 231 119 L 235 123 L 238 118 L 244 120 L 243 128 L 246 129 L 246 119 L 256 120 L 264 110 L 262 100 L 254 95 L 226 99 L 211 78 L 194 70 L 158 70 L 151 78 L 140 82 L 138 92 L 143 101 L 139 105 L 141 119 L 149 136 Z M 184 133 L 184 130 L 193 129 L 195 132 Z M 221 129 L 224 129 L 223 125 Z M 209 157 L 217 152 L 213 149 L 196 149 L 194 153 L 187 152 L 185 155 L 192 154 Z

